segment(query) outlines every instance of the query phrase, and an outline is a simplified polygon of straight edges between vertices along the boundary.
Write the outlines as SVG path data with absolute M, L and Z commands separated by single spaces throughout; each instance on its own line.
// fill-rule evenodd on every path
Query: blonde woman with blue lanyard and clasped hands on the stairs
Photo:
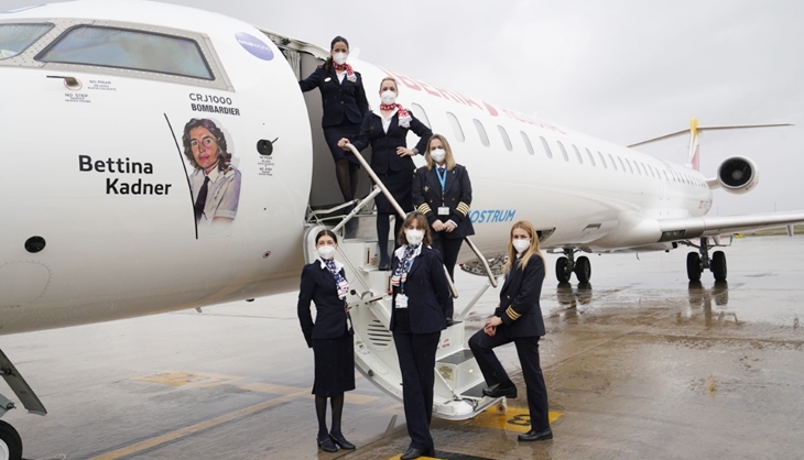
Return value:
M 475 234 L 468 217 L 471 205 L 469 173 L 455 163 L 449 142 L 441 134 L 430 138 L 424 158 L 427 165 L 413 175 L 413 206 L 427 218 L 433 249 L 441 252 L 449 277 L 455 281 L 460 245 L 464 238 Z

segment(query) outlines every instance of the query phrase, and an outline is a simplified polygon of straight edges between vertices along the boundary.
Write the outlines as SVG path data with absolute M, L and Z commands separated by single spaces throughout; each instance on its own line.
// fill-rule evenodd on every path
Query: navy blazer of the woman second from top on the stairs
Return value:
M 424 154 L 424 150 L 427 149 L 427 142 L 430 142 L 433 131 L 413 117 L 413 112 L 410 110 L 408 112 L 411 114 L 411 128 L 400 127 L 399 113 L 394 113 L 391 125 L 388 127 L 388 133 L 382 129 L 381 116 L 372 112 L 366 113 L 360 125 L 360 134 L 357 139 L 350 140 L 358 152 L 371 143 L 371 168 L 374 173 L 387 174 L 415 169 L 416 166 L 410 156 L 399 156 L 396 154 L 396 147 L 408 147 L 409 130 L 413 130 L 420 138 L 416 150 Z

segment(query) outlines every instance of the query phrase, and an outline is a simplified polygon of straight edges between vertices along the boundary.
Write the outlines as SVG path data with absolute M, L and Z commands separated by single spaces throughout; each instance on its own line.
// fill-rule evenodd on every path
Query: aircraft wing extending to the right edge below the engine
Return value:
M 661 241 L 716 237 L 804 223 L 804 211 L 768 212 L 745 216 L 704 216 L 659 221 Z

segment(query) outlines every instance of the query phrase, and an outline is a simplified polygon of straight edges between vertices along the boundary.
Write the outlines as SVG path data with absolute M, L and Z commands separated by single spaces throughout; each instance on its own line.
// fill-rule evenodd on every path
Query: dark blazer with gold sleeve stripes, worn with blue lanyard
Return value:
M 456 164 L 453 171 L 447 171 L 444 205 L 442 205 L 441 180 L 436 167 L 438 166 L 435 164 L 432 169 L 422 166 L 413 174 L 413 206 L 427 218 L 431 226 L 436 220 L 442 222 L 452 220 L 458 226 L 450 232 L 438 232 L 443 238 L 453 240 L 475 234 L 475 227 L 467 216 L 471 205 L 469 173 L 459 164 Z M 449 208 L 449 216 L 438 216 L 441 206 Z

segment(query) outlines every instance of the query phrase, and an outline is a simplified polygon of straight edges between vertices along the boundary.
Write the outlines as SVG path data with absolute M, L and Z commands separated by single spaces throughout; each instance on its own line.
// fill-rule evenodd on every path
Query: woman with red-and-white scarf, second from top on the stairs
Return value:
M 413 210 L 411 197 L 412 176 L 415 165 L 411 156 L 424 152 L 427 140 L 433 131 L 419 121 L 413 113 L 396 103 L 399 87 L 396 80 L 385 77 L 380 83 L 380 114 L 367 113 L 360 127 L 360 134 L 350 138 L 358 151 L 371 144 L 371 168 L 380 177 L 402 210 Z M 421 138 L 413 149 L 408 149 L 408 131 L 413 131 Z M 349 139 L 341 139 L 338 145 L 345 147 Z M 378 195 L 377 205 L 377 239 L 380 244 L 380 270 L 390 269 L 388 254 L 389 219 L 395 213 L 391 202 L 384 195 Z M 401 218 L 396 217 L 393 234 L 399 234 L 402 228 Z

